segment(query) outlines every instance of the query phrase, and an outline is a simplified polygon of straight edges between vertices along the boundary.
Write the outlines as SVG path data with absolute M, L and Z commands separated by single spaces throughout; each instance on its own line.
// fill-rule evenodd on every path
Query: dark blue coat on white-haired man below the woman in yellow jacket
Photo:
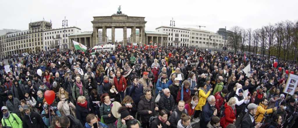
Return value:
M 207 124 L 211 120 L 213 113 L 215 110 L 215 106 L 213 106 L 213 109 L 211 108 L 209 102 L 207 102 L 203 108 L 202 108 L 202 115 L 200 119 L 200 128 L 207 128 Z

